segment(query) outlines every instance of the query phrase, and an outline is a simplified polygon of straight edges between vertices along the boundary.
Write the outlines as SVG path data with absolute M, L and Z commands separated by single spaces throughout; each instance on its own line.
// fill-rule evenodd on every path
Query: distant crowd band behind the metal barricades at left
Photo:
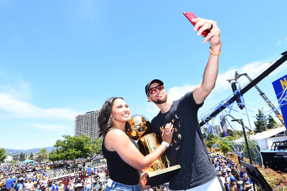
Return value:
M 13 176 L 13 178 L 20 178 L 20 175 L 27 172 L 37 172 L 37 171 L 44 171 L 47 172 L 50 169 L 53 168 L 60 168 L 60 167 L 67 167 L 71 168 L 76 164 L 84 164 L 87 162 L 95 161 L 98 159 L 102 159 L 103 155 L 101 154 L 95 154 L 92 158 L 78 158 L 75 160 L 66 160 L 66 161 L 49 161 L 45 163 L 22 163 L 22 164 L 8 164 L 4 163 L 1 164 L 0 167 L 0 178 L 2 176 Z

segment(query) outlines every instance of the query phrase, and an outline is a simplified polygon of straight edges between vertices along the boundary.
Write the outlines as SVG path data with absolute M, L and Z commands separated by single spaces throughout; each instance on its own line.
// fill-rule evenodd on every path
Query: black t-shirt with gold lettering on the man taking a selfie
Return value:
M 172 143 L 165 154 L 170 166 L 180 164 L 181 169 L 170 180 L 170 190 L 186 190 L 204 184 L 216 177 L 203 141 L 197 118 L 198 109 L 192 92 L 172 102 L 167 113 L 159 112 L 151 121 L 151 133 L 161 134 L 172 122 Z

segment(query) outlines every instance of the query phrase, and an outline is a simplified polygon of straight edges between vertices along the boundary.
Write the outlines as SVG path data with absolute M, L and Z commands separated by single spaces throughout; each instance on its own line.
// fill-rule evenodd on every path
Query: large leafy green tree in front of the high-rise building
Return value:
M 96 144 L 91 144 L 91 137 L 82 135 L 80 137 L 63 135 L 64 140 L 57 140 L 53 150 L 50 153 L 50 160 L 74 160 L 80 157 L 92 157 L 96 152 Z

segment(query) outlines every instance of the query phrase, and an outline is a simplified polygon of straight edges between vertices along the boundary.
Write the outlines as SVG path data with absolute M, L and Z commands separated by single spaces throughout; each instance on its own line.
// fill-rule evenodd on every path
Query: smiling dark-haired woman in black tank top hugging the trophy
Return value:
M 112 97 L 105 101 L 98 117 L 99 136 L 104 137 L 102 151 L 110 175 L 105 191 L 140 191 L 139 171 L 148 169 L 172 141 L 174 128 L 170 123 L 162 131 L 161 145 L 144 157 L 136 142 L 126 134 L 130 130 L 130 113 L 123 98 Z

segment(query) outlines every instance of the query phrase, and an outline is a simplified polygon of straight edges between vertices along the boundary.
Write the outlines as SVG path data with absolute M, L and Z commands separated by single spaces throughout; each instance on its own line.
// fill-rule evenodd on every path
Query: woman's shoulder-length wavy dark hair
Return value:
M 99 137 L 102 135 L 103 137 L 105 137 L 107 131 L 112 127 L 111 113 L 112 113 L 112 107 L 113 107 L 114 101 L 116 99 L 124 100 L 123 98 L 120 98 L 120 97 L 117 97 L 117 98 L 112 97 L 112 98 L 108 98 L 103 104 L 103 107 L 98 117 L 98 124 L 100 127 Z M 131 128 L 130 123 L 129 121 L 127 121 L 126 126 L 125 126 L 125 132 L 128 132 L 130 128 Z

